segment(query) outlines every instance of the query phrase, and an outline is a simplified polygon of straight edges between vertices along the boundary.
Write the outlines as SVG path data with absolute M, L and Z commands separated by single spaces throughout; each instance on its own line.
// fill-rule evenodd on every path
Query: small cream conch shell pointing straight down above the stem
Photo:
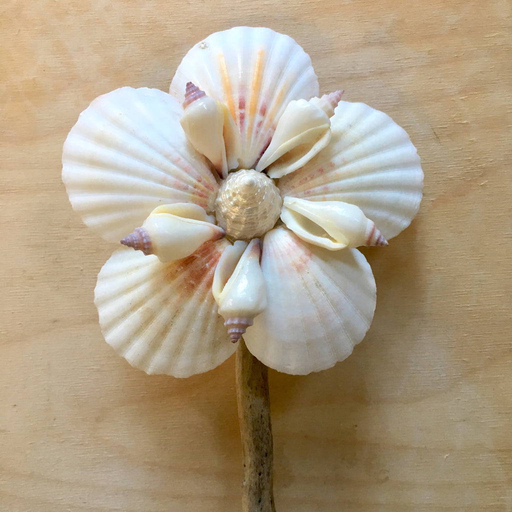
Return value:
M 267 306 L 265 280 L 260 267 L 260 240 L 236 241 L 222 254 L 211 291 L 233 343 L 238 342 L 253 318 Z

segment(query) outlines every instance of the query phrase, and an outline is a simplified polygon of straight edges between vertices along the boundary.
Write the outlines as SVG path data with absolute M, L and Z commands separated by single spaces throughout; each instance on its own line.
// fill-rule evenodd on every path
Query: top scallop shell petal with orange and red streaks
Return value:
M 247 169 L 270 143 L 286 105 L 318 94 L 309 56 L 293 39 L 267 28 L 235 27 L 199 42 L 183 58 L 170 93 L 183 101 L 189 81 L 228 106 Z

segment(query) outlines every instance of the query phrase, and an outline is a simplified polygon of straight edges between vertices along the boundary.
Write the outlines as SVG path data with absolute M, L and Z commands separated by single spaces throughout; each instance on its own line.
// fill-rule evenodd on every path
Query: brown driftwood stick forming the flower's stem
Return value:
M 242 512 L 275 512 L 267 367 L 241 339 L 237 349 L 237 401 L 244 479 Z

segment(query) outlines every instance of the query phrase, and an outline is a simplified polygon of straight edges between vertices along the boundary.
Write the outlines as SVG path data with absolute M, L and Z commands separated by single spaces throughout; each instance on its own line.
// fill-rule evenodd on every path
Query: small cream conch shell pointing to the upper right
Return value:
M 281 178 L 323 150 L 331 140 L 329 118 L 334 114 L 341 93 L 336 91 L 309 101 L 290 101 L 256 170 L 268 168 L 271 178 Z

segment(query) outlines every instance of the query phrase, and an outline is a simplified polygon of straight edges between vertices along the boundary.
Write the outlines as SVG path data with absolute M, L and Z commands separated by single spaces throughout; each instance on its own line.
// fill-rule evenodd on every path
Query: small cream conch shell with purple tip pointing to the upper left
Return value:
M 180 123 L 188 140 L 226 178 L 229 169 L 238 167 L 241 152 L 240 132 L 229 110 L 192 82 L 187 83 L 183 109 Z

